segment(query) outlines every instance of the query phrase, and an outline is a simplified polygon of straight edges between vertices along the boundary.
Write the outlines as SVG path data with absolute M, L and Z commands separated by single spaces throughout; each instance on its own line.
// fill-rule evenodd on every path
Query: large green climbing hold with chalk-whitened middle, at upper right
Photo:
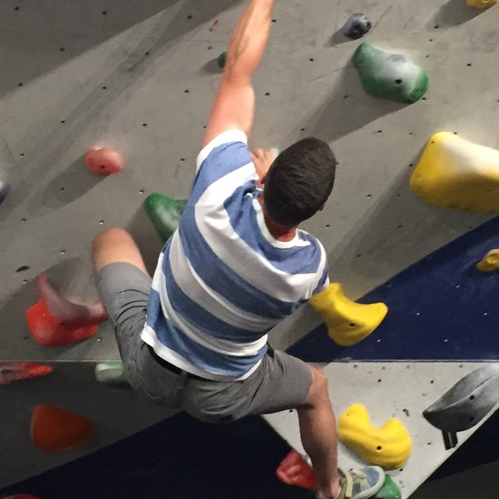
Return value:
M 364 90 L 399 102 L 413 103 L 428 90 L 428 73 L 405 55 L 392 54 L 373 45 L 362 43 L 352 57 Z

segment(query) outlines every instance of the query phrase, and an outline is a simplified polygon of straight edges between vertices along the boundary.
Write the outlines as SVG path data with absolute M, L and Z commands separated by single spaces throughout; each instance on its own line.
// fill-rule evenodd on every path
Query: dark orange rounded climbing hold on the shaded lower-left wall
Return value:
M 84 416 L 49 404 L 38 405 L 33 410 L 31 439 L 42 451 L 77 451 L 94 436 L 95 426 Z

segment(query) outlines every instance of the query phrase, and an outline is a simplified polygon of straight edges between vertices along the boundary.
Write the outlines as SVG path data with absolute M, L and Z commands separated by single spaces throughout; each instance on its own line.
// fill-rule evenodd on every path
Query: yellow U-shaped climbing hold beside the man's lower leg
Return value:
M 373 428 L 361 404 L 353 404 L 339 417 L 338 437 L 362 459 L 385 470 L 400 468 L 411 454 L 406 427 L 392 418 L 381 428 Z

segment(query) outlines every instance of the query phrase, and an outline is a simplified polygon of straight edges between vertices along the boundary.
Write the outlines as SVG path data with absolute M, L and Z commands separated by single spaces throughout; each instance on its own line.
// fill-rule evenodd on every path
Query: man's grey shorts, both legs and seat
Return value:
M 98 273 L 97 289 L 113 323 L 130 384 L 154 402 L 185 410 L 202 421 L 223 423 L 293 409 L 308 395 L 312 383 L 308 364 L 270 346 L 256 371 L 242 381 L 205 380 L 170 370 L 140 337 L 151 289 L 149 275 L 130 263 L 110 263 Z

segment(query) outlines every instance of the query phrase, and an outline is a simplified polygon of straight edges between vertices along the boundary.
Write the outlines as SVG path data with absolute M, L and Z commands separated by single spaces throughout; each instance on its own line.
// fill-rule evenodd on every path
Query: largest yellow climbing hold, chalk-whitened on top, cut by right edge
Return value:
M 432 205 L 468 213 L 498 213 L 499 151 L 439 132 L 428 141 L 410 186 Z

